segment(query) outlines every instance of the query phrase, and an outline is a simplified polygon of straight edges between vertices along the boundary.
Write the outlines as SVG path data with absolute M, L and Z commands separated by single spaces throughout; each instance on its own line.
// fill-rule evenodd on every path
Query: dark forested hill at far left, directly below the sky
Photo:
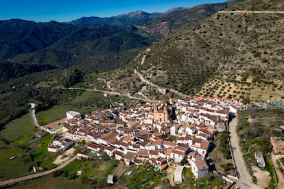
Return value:
M 80 27 L 51 21 L 34 23 L 12 19 L 0 21 L 0 60 L 13 58 L 20 53 L 43 50 Z

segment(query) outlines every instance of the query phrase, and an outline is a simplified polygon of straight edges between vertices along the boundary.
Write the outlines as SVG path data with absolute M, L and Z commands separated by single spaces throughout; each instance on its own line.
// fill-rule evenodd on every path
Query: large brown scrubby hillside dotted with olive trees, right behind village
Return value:
M 282 8 L 284 3 L 249 0 L 241 6 L 256 2 L 267 8 L 264 10 L 273 9 L 273 5 Z M 145 51 L 143 65 L 139 64 L 144 54 L 133 66 L 140 66 L 137 70 L 152 83 L 185 95 L 283 101 L 283 21 L 284 14 L 216 13 L 157 42 Z M 135 88 L 132 83 L 137 84 L 139 78 L 130 73 L 132 68 L 121 70 L 121 75 L 128 75 L 125 81 L 114 81 L 119 90 Z M 143 86 L 139 81 L 134 91 Z

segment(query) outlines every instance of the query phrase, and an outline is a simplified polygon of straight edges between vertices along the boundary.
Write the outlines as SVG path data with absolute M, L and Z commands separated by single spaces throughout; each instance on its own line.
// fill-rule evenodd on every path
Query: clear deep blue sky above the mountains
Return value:
M 165 12 L 176 7 L 193 7 L 224 0 L 1 0 L 0 20 L 21 18 L 28 21 L 72 21 L 82 16 L 110 17 L 137 10 Z

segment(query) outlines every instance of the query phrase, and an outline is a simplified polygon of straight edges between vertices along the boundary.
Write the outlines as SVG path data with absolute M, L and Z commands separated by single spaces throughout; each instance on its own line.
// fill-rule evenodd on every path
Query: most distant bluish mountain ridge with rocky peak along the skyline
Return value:
M 69 23 L 75 25 L 107 24 L 121 27 L 135 25 L 152 35 L 156 34 L 155 36 L 165 37 L 174 34 L 174 32 L 182 27 L 200 21 L 219 10 L 228 8 L 230 5 L 241 1 L 244 0 L 230 0 L 224 3 L 197 5 L 193 8 L 173 8 L 164 13 L 147 13 L 139 10 L 137 12 L 130 12 L 129 14 L 121 14 L 110 18 L 99 18 L 95 16 L 82 17 Z

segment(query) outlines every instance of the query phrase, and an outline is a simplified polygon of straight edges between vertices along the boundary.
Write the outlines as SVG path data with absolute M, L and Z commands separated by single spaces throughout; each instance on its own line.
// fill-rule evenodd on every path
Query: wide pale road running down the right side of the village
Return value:
M 237 138 L 237 117 L 233 118 L 228 128 L 230 131 L 230 144 L 233 149 L 233 159 L 235 161 L 235 166 L 237 167 L 239 177 L 236 186 L 240 188 L 259 188 L 252 182 L 252 177 L 250 177 L 250 174 L 248 173 L 241 149 L 239 147 L 239 139 Z

